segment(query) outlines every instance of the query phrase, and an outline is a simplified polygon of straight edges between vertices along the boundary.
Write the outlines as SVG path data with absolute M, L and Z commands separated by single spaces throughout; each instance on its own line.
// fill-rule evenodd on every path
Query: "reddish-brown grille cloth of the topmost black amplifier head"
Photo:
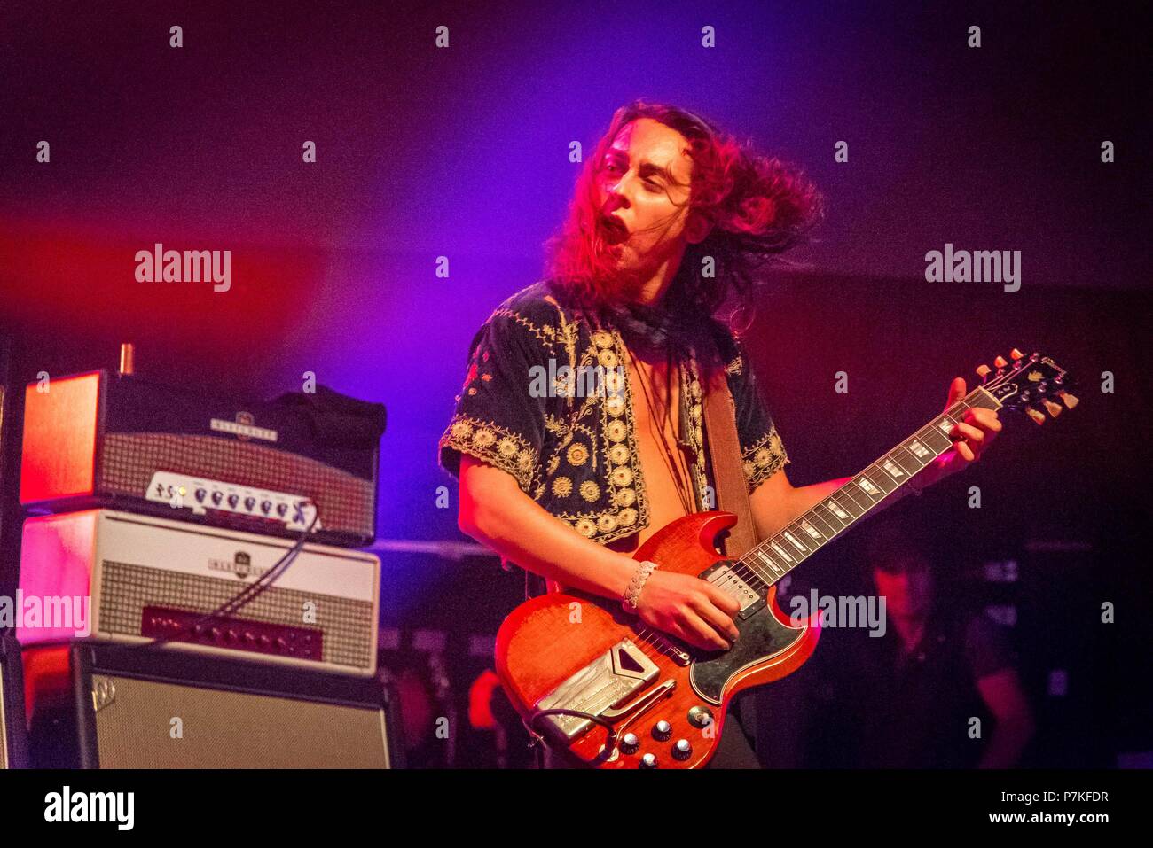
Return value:
M 307 495 L 316 502 L 322 529 L 372 535 L 372 484 L 323 462 L 210 436 L 107 433 L 104 437 L 100 484 L 105 489 L 143 498 L 157 471 Z

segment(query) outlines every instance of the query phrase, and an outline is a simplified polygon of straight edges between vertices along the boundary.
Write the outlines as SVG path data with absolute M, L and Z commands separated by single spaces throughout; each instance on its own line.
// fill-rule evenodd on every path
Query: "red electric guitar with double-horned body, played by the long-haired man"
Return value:
M 1077 399 L 1053 359 L 1011 354 L 982 365 L 965 398 L 856 475 L 821 504 L 739 560 L 716 536 L 732 513 L 686 515 L 634 554 L 664 570 L 694 574 L 741 603 L 737 642 L 704 651 L 627 615 L 619 601 L 552 592 L 518 606 L 497 634 L 496 668 L 526 726 L 574 764 L 598 768 L 696 768 L 716 750 L 732 697 L 779 680 L 813 653 L 819 616 L 790 620 L 775 583 L 952 447 L 949 431 L 969 409 L 1023 410 L 1038 424 Z

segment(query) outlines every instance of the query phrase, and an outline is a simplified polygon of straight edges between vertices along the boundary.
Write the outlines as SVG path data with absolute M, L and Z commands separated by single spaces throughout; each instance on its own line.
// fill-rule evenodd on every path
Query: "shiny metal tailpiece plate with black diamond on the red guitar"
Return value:
M 657 679 L 660 669 L 632 639 L 621 639 L 536 703 L 537 710 L 575 710 L 610 718 L 616 707 Z M 593 721 L 580 716 L 542 716 L 536 729 L 551 743 L 571 745 Z

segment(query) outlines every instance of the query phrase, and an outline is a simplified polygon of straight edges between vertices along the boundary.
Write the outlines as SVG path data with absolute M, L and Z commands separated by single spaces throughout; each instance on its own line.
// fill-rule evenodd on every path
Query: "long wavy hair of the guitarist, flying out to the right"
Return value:
M 619 297 L 619 288 L 611 282 L 619 280 L 619 272 L 598 224 L 597 173 L 620 130 L 642 118 L 688 141 L 693 172 L 684 214 L 699 212 L 713 225 L 703 241 L 686 247 L 664 308 L 715 316 L 728 305 L 732 308 L 729 320 L 745 313 L 751 324 L 763 271 L 808 240 L 823 218 L 821 195 L 800 172 L 668 104 L 634 100 L 613 113 L 593 156 L 585 159 L 564 225 L 545 242 L 545 275 L 586 308 L 604 308 Z M 704 257 L 713 258 L 715 277 L 702 277 Z

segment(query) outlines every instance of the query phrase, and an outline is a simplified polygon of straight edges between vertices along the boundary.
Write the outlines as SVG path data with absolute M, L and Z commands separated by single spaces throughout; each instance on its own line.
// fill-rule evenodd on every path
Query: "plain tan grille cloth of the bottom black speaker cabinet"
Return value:
M 379 707 L 93 675 L 115 697 L 96 713 L 101 768 L 386 768 Z M 180 719 L 179 739 L 172 737 Z

